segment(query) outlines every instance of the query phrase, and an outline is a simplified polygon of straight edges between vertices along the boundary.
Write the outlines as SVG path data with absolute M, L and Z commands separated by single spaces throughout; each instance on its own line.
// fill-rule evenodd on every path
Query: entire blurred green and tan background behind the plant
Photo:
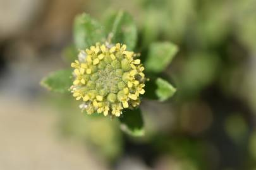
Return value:
M 39 85 L 70 67 L 76 14 L 109 9 L 133 15 L 142 49 L 180 48 L 176 95 L 142 103 L 145 137 Z M 255 170 L 255 55 L 255 0 L 0 0 L 0 169 Z

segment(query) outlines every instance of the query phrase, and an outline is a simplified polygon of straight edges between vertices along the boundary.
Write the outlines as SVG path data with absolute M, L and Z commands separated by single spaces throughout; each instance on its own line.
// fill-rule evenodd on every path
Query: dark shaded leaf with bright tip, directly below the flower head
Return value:
M 121 129 L 124 132 L 135 137 L 144 135 L 145 131 L 140 108 L 135 110 L 125 110 L 119 120 L 121 122 Z

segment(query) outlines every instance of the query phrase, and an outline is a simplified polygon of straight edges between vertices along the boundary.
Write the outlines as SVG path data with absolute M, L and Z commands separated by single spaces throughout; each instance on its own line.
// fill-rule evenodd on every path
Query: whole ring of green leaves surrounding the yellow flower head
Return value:
M 135 21 L 125 11 L 116 11 L 107 14 L 101 24 L 91 18 L 88 14 L 76 16 L 73 25 L 74 45 L 64 50 L 66 60 L 73 62 L 77 60 L 78 50 L 85 50 L 96 43 L 111 42 L 122 43 L 127 50 L 137 51 L 138 30 Z M 178 47 L 171 42 L 153 42 L 142 52 L 141 60 L 145 67 L 145 75 L 149 81 L 145 84 L 145 95 L 143 98 L 166 101 L 176 92 L 176 89 L 162 77 L 157 77 L 163 72 L 178 52 Z M 50 73 L 41 81 L 41 85 L 50 91 L 58 93 L 70 93 L 69 89 L 73 83 L 71 69 L 63 69 Z M 141 136 L 144 132 L 142 111 L 139 106 L 130 110 L 126 108 L 118 117 L 121 129 L 133 136 Z

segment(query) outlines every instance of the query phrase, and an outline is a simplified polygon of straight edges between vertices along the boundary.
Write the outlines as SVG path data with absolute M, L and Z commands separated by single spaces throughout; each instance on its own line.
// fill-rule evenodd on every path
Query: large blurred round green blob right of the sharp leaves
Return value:
M 181 65 L 181 72 L 177 76 L 181 96 L 194 97 L 210 82 L 214 81 L 216 75 L 221 71 L 219 55 L 213 52 L 191 52 Z M 224 73 L 222 73 L 224 74 Z M 224 79 L 224 84 L 227 84 Z

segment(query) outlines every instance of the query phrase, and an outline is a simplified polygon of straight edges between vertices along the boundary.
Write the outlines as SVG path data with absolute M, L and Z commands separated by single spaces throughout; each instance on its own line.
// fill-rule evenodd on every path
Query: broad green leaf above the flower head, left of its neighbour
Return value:
M 85 13 L 76 16 L 73 34 L 76 48 L 80 49 L 103 42 L 106 38 L 102 25 Z

